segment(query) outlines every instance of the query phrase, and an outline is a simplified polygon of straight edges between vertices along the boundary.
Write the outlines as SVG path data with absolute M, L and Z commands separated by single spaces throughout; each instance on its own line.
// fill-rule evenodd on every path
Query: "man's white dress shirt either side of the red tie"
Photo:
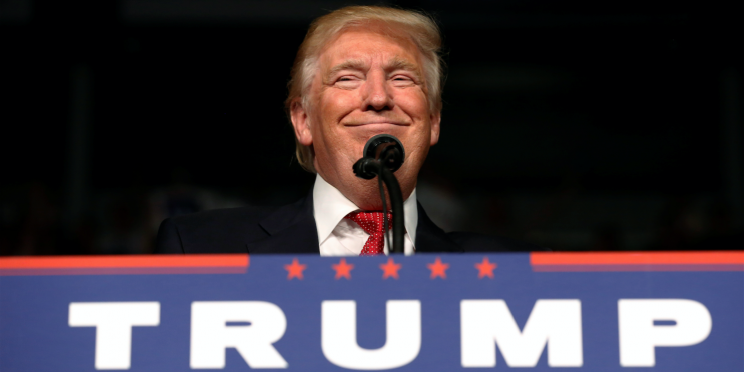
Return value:
M 321 256 L 358 256 L 367 242 L 367 234 L 356 222 L 344 218 L 347 214 L 359 211 L 359 207 L 347 199 L 338 189 L 326 182 L 323 177 L 315 177 L 313 187 L 313 213 L 315 226 L 318 229 Z M 403 237 L 404 253 L 412 255 L 416 248 L 416 225 L 418 224 L 418 210 L 416 209 L 416 190 L 403 202 L 406 234 Z M 392 226 L 389 227 L 392 230 Z M 392 233 L 391 233 L 392 244 Z M 385 239 L 385 254 L 388 254 L 387 239 Z

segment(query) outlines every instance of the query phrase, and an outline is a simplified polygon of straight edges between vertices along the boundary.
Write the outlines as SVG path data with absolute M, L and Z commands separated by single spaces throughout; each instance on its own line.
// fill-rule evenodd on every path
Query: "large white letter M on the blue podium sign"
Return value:
M 460 302 L 463 367 L 496 366 L 496 346 L 510 367 L 535 367 L 545 345 L 551 367 L 581 367 L 581 301 L 537 300 L 520 331 L 504 300 Z

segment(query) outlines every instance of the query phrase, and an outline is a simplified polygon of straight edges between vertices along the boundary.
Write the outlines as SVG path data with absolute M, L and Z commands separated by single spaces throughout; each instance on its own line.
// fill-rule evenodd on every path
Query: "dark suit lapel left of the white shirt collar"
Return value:
M 269 237 L 248 242 L 250 254 L 318 254 L 318 230 L 313 217 L 312 191 L 304 199 L 285 205 L 259 222 Z

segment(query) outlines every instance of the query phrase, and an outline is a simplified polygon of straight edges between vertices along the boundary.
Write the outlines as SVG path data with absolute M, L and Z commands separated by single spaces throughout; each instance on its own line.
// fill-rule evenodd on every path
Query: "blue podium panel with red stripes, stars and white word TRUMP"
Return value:
M 0 259 L 0 370 L 744 371 L 744 252 Z

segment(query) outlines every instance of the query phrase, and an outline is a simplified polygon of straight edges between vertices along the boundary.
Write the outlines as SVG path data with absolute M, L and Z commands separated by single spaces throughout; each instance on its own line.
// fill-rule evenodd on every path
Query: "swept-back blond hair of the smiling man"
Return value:
M 292 105 L 300 99 L 305 110 L 309 108 L 308 90 L 317 71 L 318 57 L 323 46 L 341 32 L 370 24 L 381 24 L 393 33 L 402 33 L 416 45 L 423 56 L 424 90 L 432 112 L 441 110 L 443 62 L 439 54 L 442 38 L 437 24 L 427 15 L 410 10 L 380 6 L 349 6 L 316 18 L 305 34 L 295 58 L 288 85 L 289 95 L 284 102 L 287 116 Z M 395 32 L 394 32 L 395 31 Z M 315 173 L 315 154 L 310 146 L 300 144 L 295 138 L 296 156 L 300 165 Z

